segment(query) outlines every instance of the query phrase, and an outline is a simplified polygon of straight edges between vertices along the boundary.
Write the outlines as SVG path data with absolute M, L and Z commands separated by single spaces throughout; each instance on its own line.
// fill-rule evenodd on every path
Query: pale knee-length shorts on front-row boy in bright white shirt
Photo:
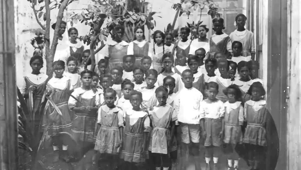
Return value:
M 200 124 L 187 124 L 187 123 L 180 123 L 181 127 L 181 141 L 183 143 L 199 143 L 200 142 Z

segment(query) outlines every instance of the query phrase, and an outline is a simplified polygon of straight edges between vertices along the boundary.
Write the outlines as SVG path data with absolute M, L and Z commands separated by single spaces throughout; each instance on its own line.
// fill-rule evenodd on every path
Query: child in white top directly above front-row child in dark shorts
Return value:
M 209 83 L 211 81 L 216 82 L 217 75 L 215 70 L 217 69 L 217 61 L 215 58 L 208 58 L 205 61 L 205 68 L 207 74 L 205 74 L 204 79 L 205 83 Z

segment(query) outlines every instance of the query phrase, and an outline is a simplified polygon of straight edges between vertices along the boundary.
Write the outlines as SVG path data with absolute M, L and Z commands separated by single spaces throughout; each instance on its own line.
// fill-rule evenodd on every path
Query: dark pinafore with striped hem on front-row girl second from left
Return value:
M 149 158 L 147 146 L 145 146 L 144 154 L 141 153 L 143 144 L 143 133 L 144 133 L 144 121 L 148 117 L 146 114 L 144 117 L 139 118 L 138 121 L 130 125 L 129 115 L 126 114 L 126 126 L 123 140 L 122 153 L 120 158 L 126 162 L 145 162 Z

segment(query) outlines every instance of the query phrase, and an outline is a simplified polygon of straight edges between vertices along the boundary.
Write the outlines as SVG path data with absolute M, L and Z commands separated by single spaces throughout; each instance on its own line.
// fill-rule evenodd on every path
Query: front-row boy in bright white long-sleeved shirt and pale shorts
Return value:
M 181 153 L 185 155 L 182 160 L 181 169 L 185 169 L 188 162 L 188 146 L 191 147 L 195 159 L 196 169 L 200 169 L 199 147 L 200 147 L 200 102 L 203 94 L 193 87 L 193 72 L 185 70 L 182 73 L 184 87 L 178 92 L 177 99 L 174 101 L 175 113 L 178 117 L 182 134 L 181 134 Z M 189 114 L 188 114 L 189 113 Z

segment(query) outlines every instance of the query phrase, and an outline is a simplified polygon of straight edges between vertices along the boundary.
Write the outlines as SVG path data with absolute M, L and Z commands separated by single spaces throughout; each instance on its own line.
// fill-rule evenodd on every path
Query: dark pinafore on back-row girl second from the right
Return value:
M 213 42 L 212 37 L 210 37 L 210 39 L 209 39 L 210 57 L 213 58 L 214 54 L 216 52 L 220 52 L 222 54 L 227 54 L 228 53 L 227 44 L 229 41 L 231 41 L 231 39 L 229 36 L 227 36 L 216 44 Z

